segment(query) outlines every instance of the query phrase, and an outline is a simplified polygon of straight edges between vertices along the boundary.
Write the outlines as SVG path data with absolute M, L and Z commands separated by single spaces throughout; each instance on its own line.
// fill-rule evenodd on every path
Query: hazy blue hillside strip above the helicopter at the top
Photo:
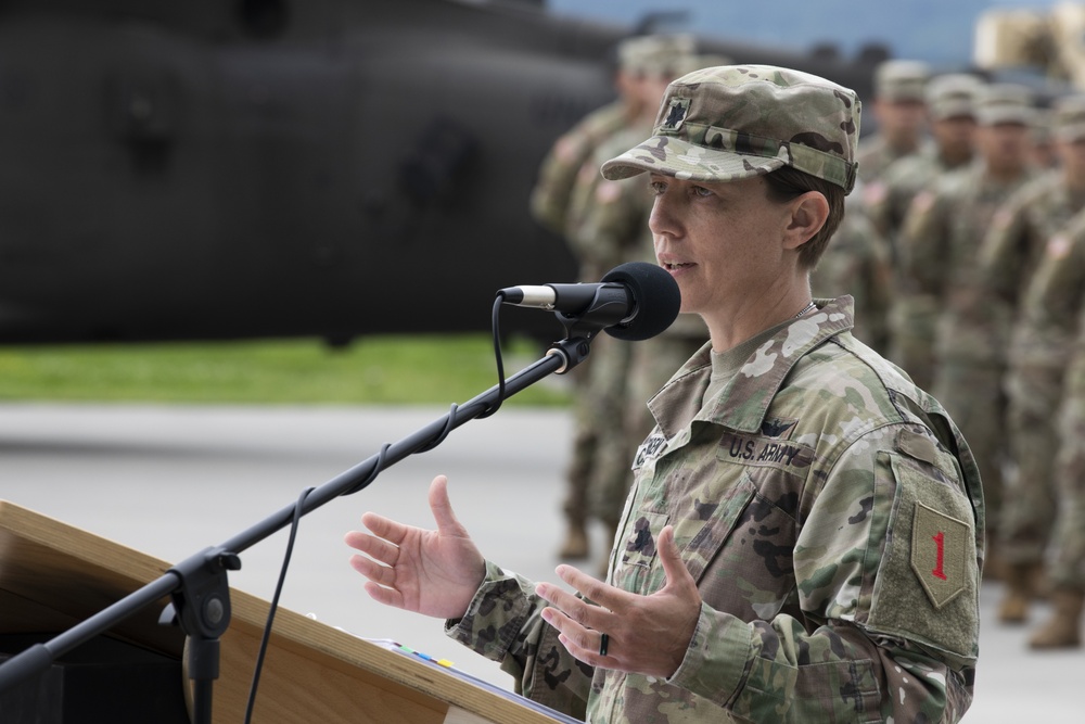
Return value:
M 844 55 L 878 42 L 897 58 L 935 64 L 968 63 L 979 14 L 995 7 L 1047 8 L 1050 0 L 758 0 L 756 9 L 735 0 L 547 0 L 553 11 L 617 23 L 648 13 L 685 10 L 681 29 L 749 42 L 807 50 L 832 42 Z

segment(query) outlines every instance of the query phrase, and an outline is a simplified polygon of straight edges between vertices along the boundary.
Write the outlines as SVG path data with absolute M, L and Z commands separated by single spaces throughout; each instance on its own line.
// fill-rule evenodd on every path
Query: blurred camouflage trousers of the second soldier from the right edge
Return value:
M 1008 563 L 1044 560 L 1055 520 L 1055 424 L 1062 398 L 1062 369 L 1042 364 L 1013 365 L 1006 376 L 1006 437 L 1011 465 L 1005 480 L 1000 551 Z

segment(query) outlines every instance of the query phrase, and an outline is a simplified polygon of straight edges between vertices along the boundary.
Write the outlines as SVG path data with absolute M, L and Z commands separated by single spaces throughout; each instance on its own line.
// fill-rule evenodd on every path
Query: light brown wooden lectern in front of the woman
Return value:
M 0 500 L 0 636 L 53 636 L 143 585 L 169 563 Z M 231 589 L 221 638 L 215 722 L 244 721 L 269 604 Z M 108 637 L 179 661 L 183 634 L 158 624 L 169 602 L 130 617 Z M 186 683 L 179 673 L 177 694 Z M 124 696 L 122 693 L 120 696 Z M 183 707 L 183 698 L 176 699 Z M 511 693 L 492 690 L 280 608 L 260 676 L 254 722 L 275 724 L 544 724 L 569 721 Z M 183 712 L 182 712 L 183 713 Z

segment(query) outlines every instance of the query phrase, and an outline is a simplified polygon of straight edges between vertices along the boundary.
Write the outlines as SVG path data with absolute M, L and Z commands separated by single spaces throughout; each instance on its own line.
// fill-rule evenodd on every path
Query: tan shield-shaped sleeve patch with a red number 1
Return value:
M 967 523 L 922 503 L 916 504 L 911 528 L 911 570 L 936 609 L 965 590 L 965 561 L 970 535 Z

